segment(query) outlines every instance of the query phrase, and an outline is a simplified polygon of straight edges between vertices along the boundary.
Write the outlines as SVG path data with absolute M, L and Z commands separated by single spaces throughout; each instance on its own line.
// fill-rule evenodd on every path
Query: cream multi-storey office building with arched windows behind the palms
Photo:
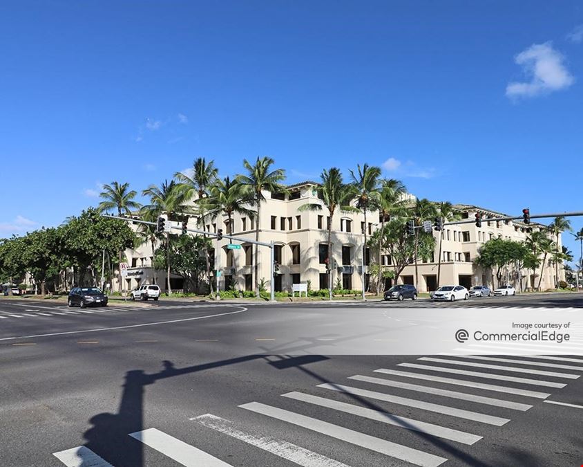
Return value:
M 311 289 L 327 289 L 329 274 L 327 274 L 327 248 L 331 248 L 332 286 L 340 284 L 343 289 L 361 289 L 363 281 L 368 285 L 369 275 L 367 265 L 378 262 L 377 252 L 366 250 L 363 255 L 363 231 L 371 235 L 379 228 L 378 212 L 368 212 L 365 221 L 361 212 L 335 212 L 332 219 L 332 237 L 330 245 L 327 241 L 327 223 L 329 216 L 325 207 L 319 211 L 300 210 L 300 206 L 309 203 L 321 203 L 315 190 L 316 183 L 303 182 L 287 187 L 288 194 L 271 194 L 265 192 L 266 201 L 261 205 L 261 219 L 259 241 L 274 242 L 275 259 L 279 271 L 275 278 L 276 291 L 291 291 L 292 284 L 310 282 Z M 406 195 L 411 201 L 414 196 Z M 484 217 L 495 217 L 503 214 L 471 205 L 456 205 L 464 217 L 472 219 L 475 212 L 481 212 Z M 232 226 L 227 218 L 215 219 L 202 226 L 208 232 L 217 232 L 222 228 L 224 234 L 234 235 L 247 239 L 255 239 L 256 219 L 235 214 Z M 526 239 L 527 228 L 541 228 L 539 224 L 526 226 L 515 221 L 483 221 L 481 228 L 474 223 L 461 226 L 446 226 L 443 231 L 441 246 L 441 285 L 462 284 L 472 286 L 486 284 L 497 286 L 495 277 L 490 271 L 482 271 L 473 264 L 477 252 L 482 244 L 489 239 L 502 237 L 521 241 Z M 201 228 L 196 219 L 191 218 L 189 228 Z M 179 232 L 176 230 L 176 232 Z M 439 254 L 439 232 L 433 232 L 436 238 L 436 249 L 428 262 L 418 263 L 419 283 L 415 284 L 414 266 L 406 266 L 399 283 L 415 284 L 419 291 L 432 291 L 437 287 L 437 259 Z M 238 250 L 227 248 L 229 240 L 213 240 L 213 266 L 220 271 L 217 278 L 220 290 L 234 287 L 239 290 L 254 290 L 254 260 L 255 246 L 245 241 L 236 242 L 241 245 Z M 166 274 L 164 271 L 154 271 L 153 248 L 149 242 L 142 244 L 135 250 L 126 250 L 128 270 L 124 276 L 123 288 L 131 290 L 140 284 L 160 284 L 162 290 L 166 288 Z M 259 280 L 270 280 L 270 252 L 269 248 L 258 247 Z M 363 274 L 363 264 L 365 265 Z M 391 269 L 392 262 L 388 255 L 381 255 L 381 264 L 385 269 Z M 504 271 L 504 280 L 519 286 L 522 280 L 526 287 L 529 271 L 515 271 L 509 268 Z M 536 280 L 538 282 L 538 274 Z M 562 273 L 564 275 L 564 273 Z M 563 279 L 560 273 L 560 280 Z M 555 268 L 547 264 L 544 268 L 542 289 L 550 289 L 555 284 Z M 155 276 L 155 277 L 154 277 Z M 181 278 L 171 277 L 172 289 L 182 289 Z M 385 286 L 392 285 L 388 280 Z

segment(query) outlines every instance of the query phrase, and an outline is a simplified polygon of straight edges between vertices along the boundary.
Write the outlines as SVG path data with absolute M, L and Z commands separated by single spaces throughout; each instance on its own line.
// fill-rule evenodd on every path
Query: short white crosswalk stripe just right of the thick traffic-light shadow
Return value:
M 170 457 L 178 464 L 187 467 L 231 467 L 231 464 L 223 462 L 208 452 L 204 452 L 190 444 L 180 441 L 169 434 L 149 428 L 148 430 L 137 431 L 129 434 L 137 441 L 142 441 L 146 446 L 162 452 L 166 457 Z

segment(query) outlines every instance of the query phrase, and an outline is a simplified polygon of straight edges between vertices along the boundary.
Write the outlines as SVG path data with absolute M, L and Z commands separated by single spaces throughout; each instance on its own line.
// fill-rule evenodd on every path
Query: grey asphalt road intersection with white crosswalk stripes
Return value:
M 575 308 L 583 326 L 578 294 L 453 307 L 539 305 Z M 0 299 L 0 465 L 582 465 L 583 347 L 553 358 L 320 351 L 339 320 L 390 311 L 409 336 L 439 331 L 443 306 Z

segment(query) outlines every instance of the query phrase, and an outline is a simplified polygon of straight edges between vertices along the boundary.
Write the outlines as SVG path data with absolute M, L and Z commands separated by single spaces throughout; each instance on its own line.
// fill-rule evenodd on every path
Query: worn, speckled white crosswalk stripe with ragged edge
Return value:
M 212 430 L 227 434 L 247 444 L 251 444 L 251 446 L 255 446 L 256 448 L 271 452 L 271 454 L 294 462 L 298 466 L 349 467 L 342 462 L 330 459 L 329 457 L 318 454 L 318 452 L 302 448 L 288 441 L 283 441 L 283 439 L 277 439 L 258 432 L 251 433 L 243 431 L 237 428 L 232 421 L 222 419 L 220 416 L 204 414 L 195 416 L 190 420 L 196 421 Z

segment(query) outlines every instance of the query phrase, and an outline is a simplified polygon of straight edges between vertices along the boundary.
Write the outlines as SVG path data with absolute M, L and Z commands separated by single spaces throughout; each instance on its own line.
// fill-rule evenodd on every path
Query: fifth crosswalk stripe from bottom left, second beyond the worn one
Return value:
M 332 401 L 332 399 L 312 396 L 311 394 L 303 394 L 302 392 L 288 392 L 287 394 L 283 394 L 283 397 L 289 397 L 289 399 L 319 405 L 321 407 L 329 408 L 332 410 L 339 410 L 340 412 L 345 412 L 351 415 L 362 416 L 365 419 L 381 421 L 383 423 L 388 423 L 389 425 L 396 425 L 401 428 L 406 428 L 407 430 L 414 430 L 426 434 L 431 434 L 432 436 L 438 438 L 450 439 L 451 441 L 457 441 L 458 443 L 462 444 L 472 445 L 482 439 L 482 437 L 478 436 L 477 434 L 453 430 L 452 428 L 434 425 L 433 423 L 408 419 L 404 416 L 391 414 L 390 412 L 373 410 L 360 407 L 359 405 L 347 404 L 340 401 Z

